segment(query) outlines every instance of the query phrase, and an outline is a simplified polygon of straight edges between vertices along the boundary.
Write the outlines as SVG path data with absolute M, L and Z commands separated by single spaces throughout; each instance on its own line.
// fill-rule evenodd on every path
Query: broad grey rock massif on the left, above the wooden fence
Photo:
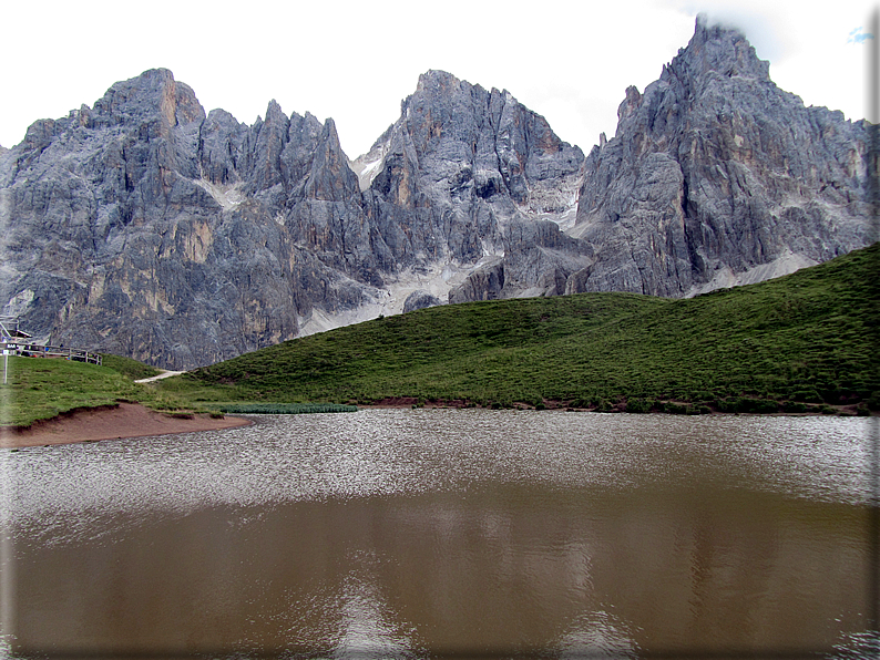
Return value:
M 54 343 L 187 369 L 370 299 L 284 226 L 346 181 L 359 196 L 334 178 L 331 123 L 291 123 L 272 104 L 252 127 L 206 118 L 164 70 L 34 123 L 0 161 L 4 311 Z

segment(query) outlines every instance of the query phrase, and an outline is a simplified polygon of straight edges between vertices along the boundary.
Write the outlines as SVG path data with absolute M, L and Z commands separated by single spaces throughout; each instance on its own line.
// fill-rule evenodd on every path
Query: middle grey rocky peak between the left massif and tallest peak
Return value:
M 511 220 L 573 216 L 583 161 L 509 92 L 429 71 L 352 167 L 395 261 L 423 267 L 500 254 Z

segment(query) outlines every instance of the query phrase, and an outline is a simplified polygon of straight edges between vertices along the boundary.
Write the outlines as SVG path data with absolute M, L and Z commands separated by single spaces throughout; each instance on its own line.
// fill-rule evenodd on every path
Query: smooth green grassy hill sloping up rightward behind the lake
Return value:
M 880 244 L 686 300 L 584 293 L 431 308 L 288 341 L 157 388 L 202 403 L 864 412 L 880 396 L 879 258 Z

